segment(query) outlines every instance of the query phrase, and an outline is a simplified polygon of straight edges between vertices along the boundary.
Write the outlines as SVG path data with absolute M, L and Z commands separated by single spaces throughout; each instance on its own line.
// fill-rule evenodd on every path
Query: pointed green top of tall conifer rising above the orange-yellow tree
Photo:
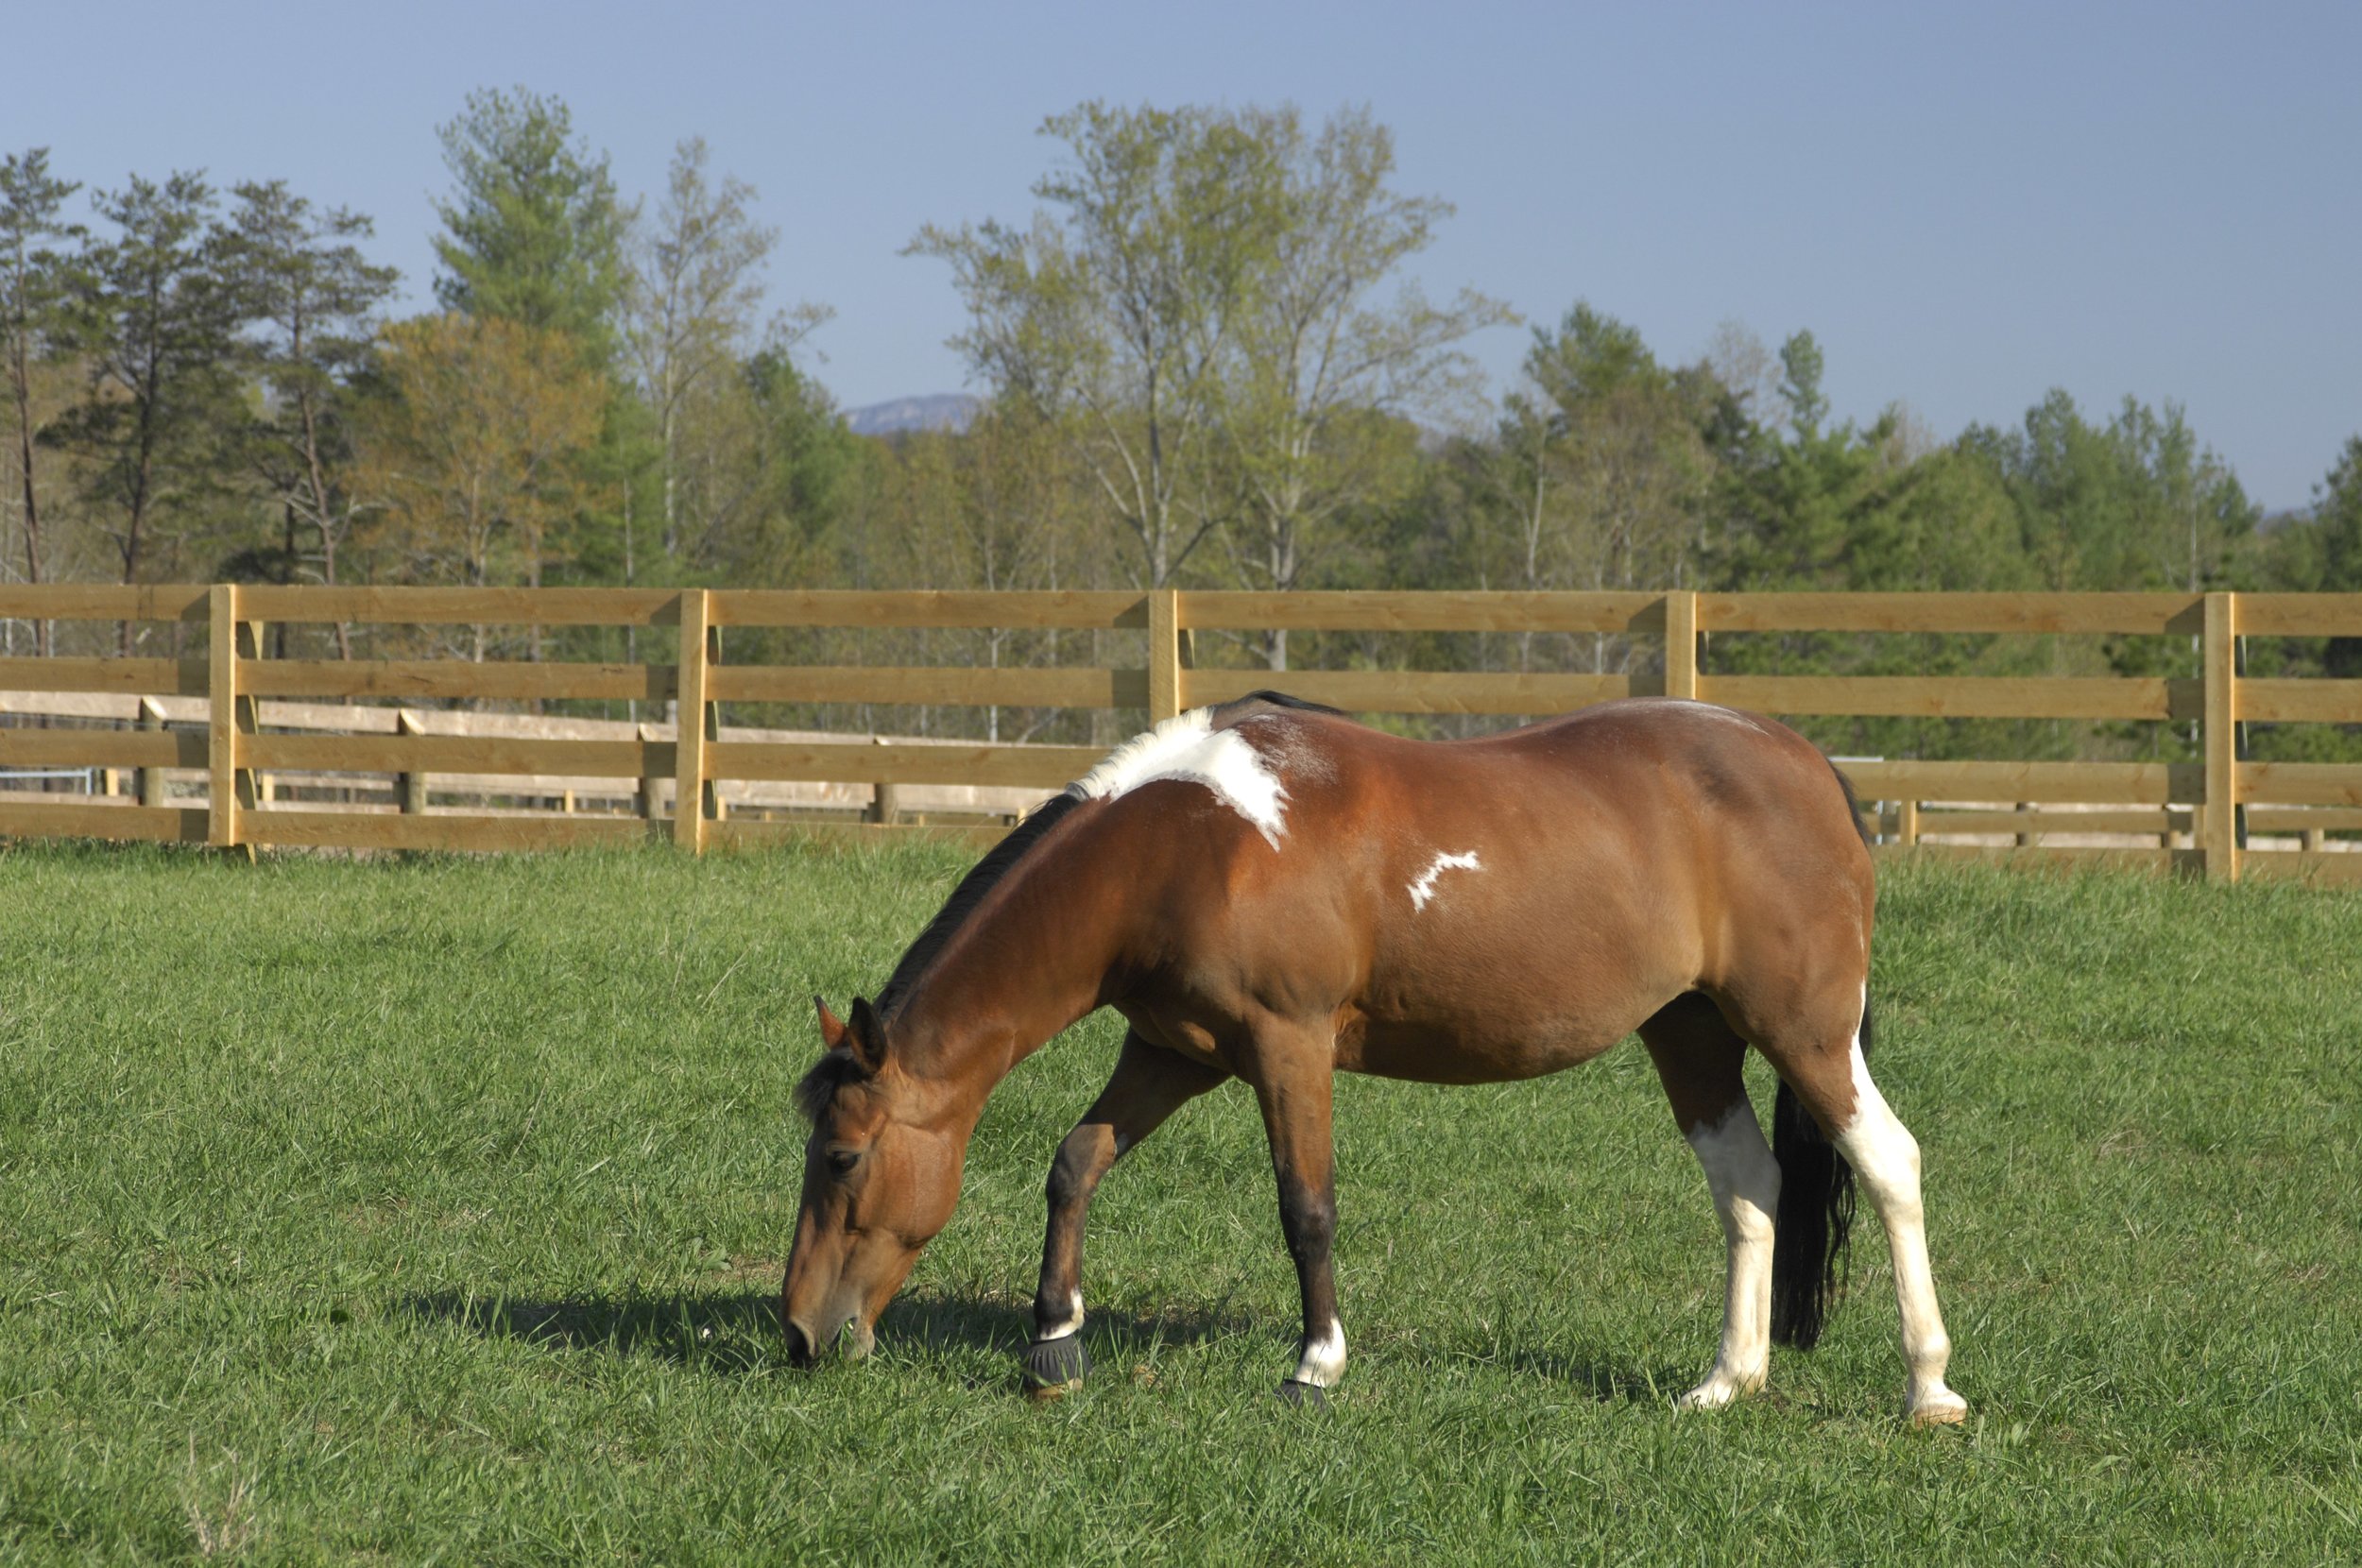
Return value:
M 607 156 L 574 139 L 562 99 L 524 87 L 470 92 L 437 135 L 456 189 L 435 203 L 444 224 L 435 298 L 444 309 L 565 333 L 605 371 L 631 227 Z

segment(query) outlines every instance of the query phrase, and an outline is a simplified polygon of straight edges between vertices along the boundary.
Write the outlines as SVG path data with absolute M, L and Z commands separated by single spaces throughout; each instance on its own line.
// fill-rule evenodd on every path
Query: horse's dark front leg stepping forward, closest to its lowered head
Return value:
M 1082 1223 L 1098 1178 L 1162 1126 L 1164 1117 L 1226 1077 L 1219 1067 L 1202 1067 L 1138 1034 L 1124 1034 L 1108 1086 L 1058 1145 L 1058 1157 L 1049 1167 L 1042 1287 L 1035 1292 L 1035 1337 L 1025 1346 L 1027 1393 L 1063 1393 L 1091 1370 L 1082 1353 Z

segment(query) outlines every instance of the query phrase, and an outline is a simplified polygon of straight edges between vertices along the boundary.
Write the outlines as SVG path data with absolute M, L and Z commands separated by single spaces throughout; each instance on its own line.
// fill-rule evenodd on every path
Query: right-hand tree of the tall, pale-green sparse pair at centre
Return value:
M 1434 239 L 1450 203 L 1389 189 L 1394 137 L 1365 109 L 1304 132 L 1294 109 L 1240 111 L 1261 149 L 1238 328 L 1219 378 L 1219 432 L 1238 524 L 1240 576 L 1304 583 L 1320 536 L 1349 508 L 1408 489 L 1401 420 L 1441 413 L 1474 387 L 1460 340 L 1514 314 L 1462 290 L 1448 307 L 1417 286 L 1372 293 Z M 1264 633 L 1264 661 L 1287 668 L 1287 633 Z

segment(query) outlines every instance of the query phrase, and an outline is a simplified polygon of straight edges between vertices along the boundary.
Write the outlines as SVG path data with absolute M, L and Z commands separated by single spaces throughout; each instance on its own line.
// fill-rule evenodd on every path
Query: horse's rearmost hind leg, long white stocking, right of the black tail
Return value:
M 1904 1367 L 1911 1374 L 1906 1415 L 1920 1426 L 1942 1426 L 1965 1419 L 1968 1400 L 1944 1384 L 1951 1337 L 1944 1332 L 1944 1313 L 1934 1304 L 1934 1273 L 1927 1268 L 1918 1141 L 1871 1082 L 1864 1056 L 1866 1020 L 1868 999 L 1857 994 L 1849 1011 L 1854 1032 L 1842 1053 L 1828 1046 L 1788 1053 L 1774 1044 L 1767 1044 L 1764 1053 L 1854 1167 L 1854 1178 L 1878 1211 L 1894 1259 L 1894 1306 L 1901 1315 Z M 1821 1032 L 1823 1039 L 1828 1034 Z M 1842 1039 L 1842 1032 L 1835 1037 Z

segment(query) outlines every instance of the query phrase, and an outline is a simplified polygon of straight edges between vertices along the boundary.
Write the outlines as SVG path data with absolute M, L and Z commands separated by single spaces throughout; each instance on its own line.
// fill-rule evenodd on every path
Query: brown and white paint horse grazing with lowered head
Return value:
M 1344 1370 L 1330 1275 L 1330 1077 L 1486 1084 L 1639 1032 L 1729 1242 L 1722 1351 L 1684 1405 L 1809 1348 L 1859 1178 L 1885 1226 L 1913 1422 L 1958 1422 L 1918 1145 L 1871 1084 L 1871 857 L 1800 734 L 1696 701 L 1613 701 L 1408 741 L 1257 694 L 1172 718 L 1035 812 L 952 893 L 798 1089 L 813 1119 L 782 1287 L 803 1363 L 872 1325 L 952 1216 L 985 1096 L 1101 1006 L 1131 1025 L 1058 1145 L 1025 1353 L 1077 1381 L 1082 1226 L 1101 1176 L 1193 1096 L 1254 1089 L 1304 1289 L 1283 1384 Z M 1741 1082 L 1779 1072 L 1764 1143 Z M 1774 1244 L 1776 1240 L 1776 1244 Z

